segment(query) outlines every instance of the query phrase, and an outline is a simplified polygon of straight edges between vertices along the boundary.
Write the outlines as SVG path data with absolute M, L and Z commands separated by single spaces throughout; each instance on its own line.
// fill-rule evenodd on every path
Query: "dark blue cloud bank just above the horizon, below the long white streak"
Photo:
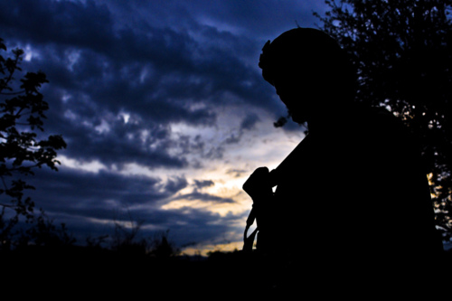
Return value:
M 27 195 L 32 196 L 33 201 L 39 204 L 38 207 L 45 208 L 50 218 L 64 221 L 80 243 L 87 237 L 113 234 L 113 223 L 93 221 L 142 221 L 142 236 L 151 237 L 155 229 L 171 230 L 171 238 L 183 245 L 192 241 L 210 241 L 218 234 L 230 231 L 230 225 L 242 218 L 231 214 L 220 217 L 216 213 L 189 207 L 183 210 L 159 209 L 159 202 L 174 199 L 174 195 L 187 186 L 184 177 L 175 177 L 164 183 L 158 178 L 103 171 L 98 174 L 74 173 L 70 169 L 61 168 L 58 173 L 39 170 L 30 179 L 30 183 L 37 190 L 29 191 Z M 199 184 L 211 185 L 209 181 L 200 181 Z M 193 192 L 187 197 L 231 202 L 206 193 Z M 146 230 L 147 226 L 151 226 L 151 230 Z

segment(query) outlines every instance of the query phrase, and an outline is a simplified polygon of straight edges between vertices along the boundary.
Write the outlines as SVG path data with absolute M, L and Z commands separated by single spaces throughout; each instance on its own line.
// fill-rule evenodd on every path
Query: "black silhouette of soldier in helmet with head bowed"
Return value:
M 293 29 L 265 44 L 259 67 L 309 131 L 276 170 L 260 167 L 243 185 L 258 249 L 305 272 L 434 263 L 442 243 L 419 147 L 391 113 L 353 100 L 355 74 L 337 43 Z

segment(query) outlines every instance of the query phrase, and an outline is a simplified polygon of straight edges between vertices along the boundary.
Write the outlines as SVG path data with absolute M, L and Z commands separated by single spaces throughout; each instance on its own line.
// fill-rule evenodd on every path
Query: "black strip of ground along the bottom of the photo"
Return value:
M 209 258 L 130 256 L 104 249 L 34 249 L 2 256 L 1 276 L 4 291 L 12 296 L 45 296 L 47 299 L 83 297 L 132 297 L 178 300 L 258 299 L 279 300 L 348 296 L 366 300 L 365 296 L 388 297 L 452 291 L 449 269 L 452 253 L 441 265 L 447 273 L 429 274 L 431 283 L 412 282 L 390 274 L 360 276 L 353 271 L 307 272 L 284 260 L 269 261 L 256 254 L 240 251 L 212 253 Z M 395 280 L 395 281 L 394 281 Z M 419 287 L 420 285 L 420 287 Z M 398 292 L 393 288 L 399 288 Z M 363 295 L 366 294 L 366 295 Z M 288 296 L 282 298 L 282 296 Z M 299 296 L 299 297 L 294 297 Z M 303 297 L 311 296 L 311 297 Z M 428 295 L 428 299 L 431 299 Z M 6 300 L 6 299 L 5 299 Z

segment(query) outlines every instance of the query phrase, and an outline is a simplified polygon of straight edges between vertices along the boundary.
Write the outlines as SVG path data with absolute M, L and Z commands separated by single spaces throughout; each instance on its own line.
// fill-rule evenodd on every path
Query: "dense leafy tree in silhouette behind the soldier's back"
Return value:
M 452 235 L 452 1 L 325 1 L 319 29 L 350 54 L 356 100 L 391 110 L 419 136 L 437 224 Z M 409 206 L 409 204 L 407 204 Z

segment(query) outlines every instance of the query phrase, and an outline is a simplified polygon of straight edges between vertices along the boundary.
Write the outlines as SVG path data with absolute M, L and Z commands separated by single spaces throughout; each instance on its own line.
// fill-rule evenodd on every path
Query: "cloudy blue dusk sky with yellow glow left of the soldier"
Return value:
M 74 238 L 140 223 L 185 254 L 241 249 L 259 166 L 304 137 L 261 77 L 268 40 L 315 27 L 323 1 L 0 1 L 0 37 L 43 71 L 45 135 L 59 171 L 27 178 L 37 208 Z

